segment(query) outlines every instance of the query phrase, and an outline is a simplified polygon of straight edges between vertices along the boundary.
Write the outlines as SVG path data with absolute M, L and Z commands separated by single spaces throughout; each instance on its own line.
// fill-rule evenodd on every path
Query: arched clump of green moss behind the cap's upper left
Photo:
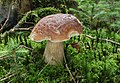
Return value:
M 37 23 L 41 18 L 51 15 L 60 13 L 61 11 L 56 8 L 47 7 L 47 8 L 36 8 L 35 10 L 32 10 L 30 12 L 27 12 L 25 16 L 22 17 L 20 20 L 21 24 L 24 22 L 33 22 Z

